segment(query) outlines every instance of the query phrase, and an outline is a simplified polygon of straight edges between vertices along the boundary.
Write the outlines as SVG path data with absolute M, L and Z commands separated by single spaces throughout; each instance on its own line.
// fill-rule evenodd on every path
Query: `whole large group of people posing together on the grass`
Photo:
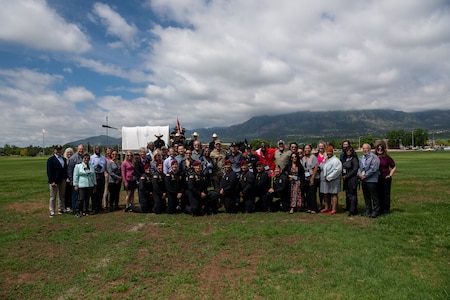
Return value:
M 136 213 L 187 213 L 193 216 L 227 213 L 286 211 L 337 213 L 338 193 L 345 191 L 345 209 L 358 213 L 357 188 L 361 184 L 365 211 L 375 218 L 390 211 L 390 187 L 395 162 L 383 143 L 364 144 L 358 158 L 350 141 L 343 142 L 340 158 L 332 145 L 319 143 L 276 148 L 264 142 L 253 151 L 247 143 L 222 148 L 217 134 L 202 145 L 198 134 L 188 142 L 174 135 L 168 145 L 156 140 L 138 153 L 127 151 L 123 161 L 117 150 L 100 146 L 94 154 L 57 145 L 47 161 L 50 217 L 72 211 L 77 217 L 119 209 L 123 186 L 125 211 Z M 56 198 L 59 193 L 59 206 Z M 135 201 L 137 194 L 138 203 Z

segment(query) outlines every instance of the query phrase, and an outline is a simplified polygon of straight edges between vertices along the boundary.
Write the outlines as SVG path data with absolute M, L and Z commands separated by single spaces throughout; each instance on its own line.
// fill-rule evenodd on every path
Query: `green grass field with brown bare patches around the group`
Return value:
M 347 217 L 342 193 L 334 216 L 51 219 L 46 160 L 1 157 L 0 298 L 450 299 L 450 153 L 392 156 L 377 219 Z

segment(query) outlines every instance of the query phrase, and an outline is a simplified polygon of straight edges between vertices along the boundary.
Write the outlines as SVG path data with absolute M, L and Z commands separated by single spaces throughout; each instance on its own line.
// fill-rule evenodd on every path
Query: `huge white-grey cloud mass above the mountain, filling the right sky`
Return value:
M 181 26 L 152 28 L 158 40 L 147 67 L 155 86 L 147 93 L 190 111 L 185 118 L 198 126 L 240 123 L 259 112 L 429 108 L 419 99 L 411 105 L 416 97 L 403 91 L 418 92 L 417 78 L 430 80 L 423 71 L 436 57 L 449 61 L 449 4 L 346 3 L 151 1 Z M 434 73 L 433 82 L 445 84 L 444 74 Z M 208 124 L 196 112 L 202 107 L 224 117 Z

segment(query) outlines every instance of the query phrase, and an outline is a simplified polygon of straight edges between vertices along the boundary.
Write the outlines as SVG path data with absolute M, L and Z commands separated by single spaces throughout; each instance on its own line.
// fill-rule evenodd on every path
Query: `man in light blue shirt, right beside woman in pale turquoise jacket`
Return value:
M 92 194 L 92 213 L 97 214 L 102 208 L 103 191 L 105 189 L 106 158 L 100 153 L 100 146 L 94 147 L 94 154 L 89 162 L 94 166 L 97 187 Z

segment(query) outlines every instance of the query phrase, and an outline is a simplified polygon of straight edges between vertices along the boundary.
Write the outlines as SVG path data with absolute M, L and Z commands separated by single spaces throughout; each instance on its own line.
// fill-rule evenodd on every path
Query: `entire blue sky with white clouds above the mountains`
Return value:
M 448 0 L 0 0 L 0 146 L 450 108 Z M 120 132 L 109 130 L 110 136 Z

